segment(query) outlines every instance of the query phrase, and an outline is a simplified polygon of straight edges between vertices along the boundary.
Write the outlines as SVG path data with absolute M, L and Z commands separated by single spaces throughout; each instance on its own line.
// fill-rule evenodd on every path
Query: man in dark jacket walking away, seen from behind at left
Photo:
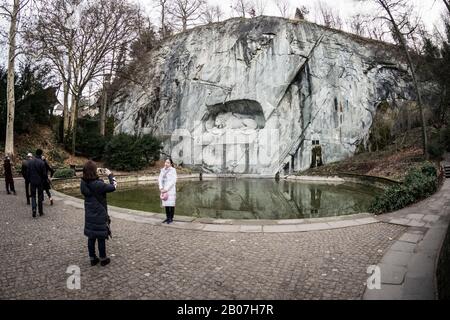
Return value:
M 36 150 L 36 157 L 28 162 L 27 176 L 31 185 L 31 207 L 33 210 L 33 218 L 36 217 L 36 192 L 38 193 L 38 210 L 39 215 L 44 215 L 42 202 L 44 201 L 44 179 L 47 179 L 47 170 L 45 163 L 42 161 L 42 150 Z

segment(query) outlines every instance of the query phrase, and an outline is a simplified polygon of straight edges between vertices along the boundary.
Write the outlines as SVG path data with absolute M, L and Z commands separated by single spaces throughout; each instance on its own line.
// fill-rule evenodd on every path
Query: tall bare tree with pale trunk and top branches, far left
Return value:
M 8 71 L 7 71 L 7 116 L 5 154 L 14 157 L 14 113 L 15 113 L 15 61 L 18 54 L 16 42 L 20 13 L 28 5 L 28 0 L 14 0 L 12 7 L 0 5 L 0 14 L 9 20 L 8 34 Z

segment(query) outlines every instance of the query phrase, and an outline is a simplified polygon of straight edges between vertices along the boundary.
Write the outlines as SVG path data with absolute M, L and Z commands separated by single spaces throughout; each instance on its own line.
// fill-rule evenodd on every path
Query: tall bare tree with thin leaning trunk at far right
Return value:
M 388 21 L 391 25 L 391 30 L 393 33 L 393 38 L 396 39 L 405 56 L 408 63 L 409 72 L 411 74 L 414 88 L 417 94 L 417 103 L 420 110 L 420 118 L 422 122 L 422 143 L 423 143 L 423 154 L 428 158 L 428 139 L 427 139 L 427 128 L 425 122 L 425 116 L 423 111 L 423 101 L 422 93 L 417 80 L 417 75 L 415 71 L 415 66 L 409 52 L 408 44 L 405 37 L 412 32 L 414 32 L 415 27 L 411 28 L 409 25 L 411 12 L 413 12 L 413 7 L 408 4 L 407 0 L 373 0 L 385 13 L 380 16 L 380 19 Z M 405 32 L 405 29 L 406 32 Z

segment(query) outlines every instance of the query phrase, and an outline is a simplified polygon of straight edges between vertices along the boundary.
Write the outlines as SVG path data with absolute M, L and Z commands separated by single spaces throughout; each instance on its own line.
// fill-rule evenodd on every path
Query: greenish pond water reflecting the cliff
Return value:
M 217 219 L 302 219 L 367 212 L 380 189 L 353 183 L 272 179 L 178 181 L 176 215 Z M 69 194 L 78 196 L 79 190 Z M 163 213 L 156 183 L 121 185 L 108 204 Z

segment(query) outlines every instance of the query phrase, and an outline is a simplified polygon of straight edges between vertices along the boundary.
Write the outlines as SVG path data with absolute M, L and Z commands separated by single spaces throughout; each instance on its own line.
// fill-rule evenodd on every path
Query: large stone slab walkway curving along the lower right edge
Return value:
M 450 222 L 450 180 L 430 198 L 378 220 L 408 229 L 380 261 L 381 290 L 366 290 L 364 299 L 436 299 L 436 266 Z

